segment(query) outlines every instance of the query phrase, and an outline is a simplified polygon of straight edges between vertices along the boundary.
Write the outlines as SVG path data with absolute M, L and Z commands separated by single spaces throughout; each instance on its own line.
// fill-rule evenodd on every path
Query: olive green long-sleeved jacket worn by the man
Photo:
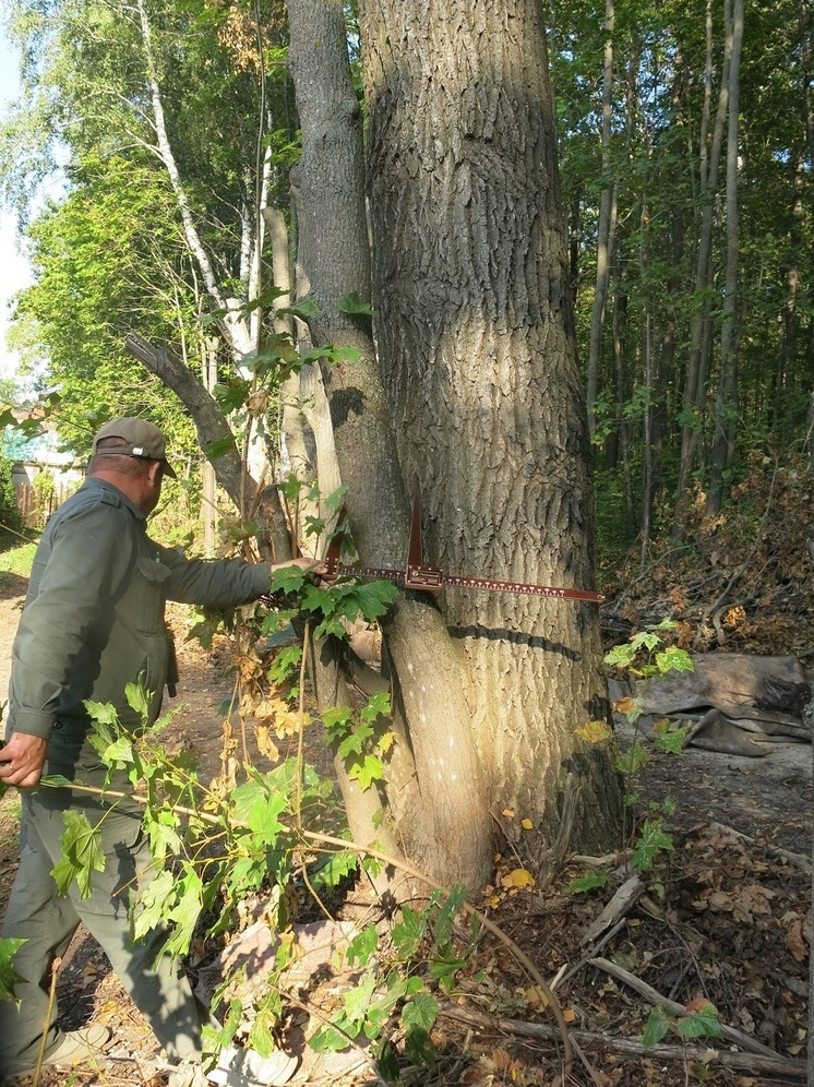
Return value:
M 268 563 L 188 560 L 154 542 L 141 511 L 89 477 L 51 517 L 34 559 L 12 647 L 9 732 L 49 738 L 55 721 L 87 721 L 83 703 L 112 703 L 139 725 L 124 686 L 152 694 L 167 680 L 167 600 L 230 608 L 270 586 Z

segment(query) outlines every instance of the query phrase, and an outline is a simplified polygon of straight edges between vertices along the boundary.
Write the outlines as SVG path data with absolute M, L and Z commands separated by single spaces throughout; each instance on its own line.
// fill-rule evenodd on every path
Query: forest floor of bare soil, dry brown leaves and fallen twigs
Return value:
M 737 548 L 732 553 L 733 546 L 727 546 L 729 566 L 715 560 L 705 568 L 697 550 L 686 568 L 677 569 L 673 561 L 668 570 L 666 559 L 654 562 L 647 577 L 625 580 L 630 587 L 624 594 L 611 586 L 614 597 L 603 608 L 603 626 L 624 641 L 627 631 L 669 613 L 679 623 L 684 645 L 794 654 L 811 667 L 814 580 L 799 548 L 791 558 L 787 548 L 778 565 L 770 561 L 771 540 L 764 539 L 764 546 L 769 556 L 765 561 L 755 549 L 739 559 Z M 713 553 L 708 541 L 699 547 L 705 556 Z M 719 608 L 710 608 L 739 570 L 738 594 L 730 592 Z M 24 589 L 23 578 L 0 575 L 3 689 Z M 718 644 L 721 633 L 723 645 Z M 178 702 L 185 708 L 170 727 L 179 744 L 199 752 L 215 769 L 218 707 L 232 692 L 228 648 L 220 643 L 206 654 L 183 641 L 179 647 Z M 330 772 L 319 740 L 309 741 L 309 756 Z M 608 887 L 588 894 L 564 894 L 584 864 L 565 864 L 546 888 L 498 882 L 486 891 L 494 922 L 544 978 L 563 978 L 556 996 L 577 1054 L 570 1068 L 563 1075 L 559 1030 L 540 1006 L 540 994 L 502 945 L 481 937 L 460 977 L 459 994 L 448 1000 L 433 1029 L 434 1068 L 408 1071 L 407 1082 L 467 1087 L 678 1087 L 695 1082 L 754 1087 L 805 1082 L 812 748 L 775 743 L 764 758 L 695 749 L 678 756 L 656 754 L 642 789 L 639 820 L 648 803 L 675 798 L 674 815 L 668 820 L 673 848 L 657 861 L 642 897 L 620 911 L 608 931 L 584 939 L 612 892 L 630 875 L 623 864 L 617 865 Z M 10 792 L 0 804 L 0 916 L 16 863 L 16 803 Z M 504 864 L 503 871 L 514 867 L 511 857 Z M 364 887 L 357 886 L 345 903 L 336 904 L 344 932 L 357 920 L 364 897 Z M 321 990 L 314 982 L 310 999 L 330 1014 L 340 983 L 331 978 Z M 641 983 L 650 987 L 646 994 Z M 95 1070 L 77 1070 L 71 1084 L 158 1087 L 165 1082 L 148 1029 L 82 929 L 62 965 L 57 991 L 69 1029 L 94 1018 L 108 1023 L 115 1036 L 110 1060 Z M 702 1037 L 685 1043 L 673 1024 L 660 1048 L 645 1050 L 641 1039 L 654 1002 L 670 1000 L 679 1007 L 711 1002 L 720 1022 L 745 1040 L 735 1044 L 734 1036 L 722 1042 Z M 302 1013 L 295 1008 L 292 1019 L 298 1018 Z M 382 1083 L 369 1062 L 345 1074 L 339 1065 L 315 1066 L 311 1059 L 297 1082 Z M 44 1071 L 40 1077 L 44 1087 L 67 1083 L 65 1074 L 55 1071 Z

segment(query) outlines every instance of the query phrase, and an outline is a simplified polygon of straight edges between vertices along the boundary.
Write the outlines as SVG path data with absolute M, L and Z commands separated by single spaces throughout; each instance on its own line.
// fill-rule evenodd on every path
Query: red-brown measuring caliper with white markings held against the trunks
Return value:
M 481 589 L 487 593 L 516 593 L 523 596 L 546 596 L 563 600 L 591 600 L 595 604 L 601 604 L 604 600 L 601 593 L 591 593 L 589 589 L 560 588 L 555 585 L 528 585 L 523 582 L 501 582 L 492 577 L 464 577 L 457 574 L 445 574 L 436 566 L 426 566 L 421 540 L 421 507 L 418 499 L 412 505 L 412 525 L 406 570 L 393 570 L 387 566 L 348 565 L 339 561 L 340 550 L 342 536 L 338 535 L 331 541 L 327 554 L 323 560 L 331 577 L 347 574 L 364 580 L 384 578 L 395 582 L 396 585 L 404 585 L 405 588 L 421 589 L 424 593 L 441 593 L 446 586 L 453 586 L 454 588 Z

